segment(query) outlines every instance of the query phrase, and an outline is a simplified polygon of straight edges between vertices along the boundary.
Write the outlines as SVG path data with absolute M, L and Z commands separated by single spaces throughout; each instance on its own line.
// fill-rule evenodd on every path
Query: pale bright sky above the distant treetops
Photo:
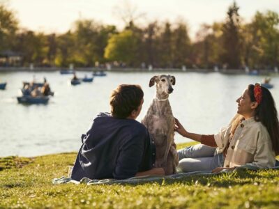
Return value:
M 137 24 L 184 20 L 188 23 L 190 37 L 194 38 L 201 24 L 225 20 L 233 0 L 8 0 L 8 8 L 26 29 L 64 33 L 80 19 L 93 19 L 123 29 L 119 14 L 127 2 L 136 9 L 135 14 L 140 15 Z M 246 22 L 250 22 L 257 10 L 279 13 L 279 0 L 236 0 L 236 3 Z

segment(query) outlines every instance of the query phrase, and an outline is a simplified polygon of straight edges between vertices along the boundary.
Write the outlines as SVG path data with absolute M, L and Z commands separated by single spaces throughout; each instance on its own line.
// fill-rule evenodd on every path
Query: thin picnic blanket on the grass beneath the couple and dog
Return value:
M 246 164 L 242 167 L 236 167 L 234 171 L 239 171 L 243 169 L 249 169 L 253 171 L 259 170 L 258 167 L 253 166 L 252 164 Z M 271 169 L 278 169 L 279 165 L 276 164 L 276 167 L 273 167 Z M 66 183 L 74 183 L 74 184 L 86 184 L 86 185 L 112 185 L 112 184 L 130 184 L 130 185 L 137 185 L 137 184 L 144 184 L 144 183 L 160 183 L 162 184 L 165 182 L 165 180 L 181 180 L 183 178 L 187 178 L 189 176 L 214 176 L 214 175 L 220 175 L 221 173 L 228 173 L 228 172 L 234 172 L 229 170 L 223 170 L 219 173 L 212 173 L 211 171 L 194 171 L 194 172 L 188 172 L 188 173 L 176 173 L 169 176 L 141 176 L 141 177 L 133 177 L 123 180 L 117 180 L 113 178 L 108 179 L 89 179 L 89 178 L 82 178 L 82 180 L 77 181 L 73 180 L 71 178 L 61 177 L 61 178 L 54 178 L 52 180 L 52 183 L 54 185 L 60 185 L 60 184 L 66 184 Z

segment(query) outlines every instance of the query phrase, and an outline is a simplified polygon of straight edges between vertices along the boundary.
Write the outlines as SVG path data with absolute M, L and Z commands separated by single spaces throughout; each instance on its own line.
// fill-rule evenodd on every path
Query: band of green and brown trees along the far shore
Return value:
M 11 64 L 25 66 L 68 67 L 73 63 L 91 67 L 107 62 L 146 68 L 186 65 L 212 69 L 227 65 L 273 70 L 279 66 L 279 17 L 270 10 L 257 12 L 245 23 L 234 1 L 225 20 L 203 24 L 195 40 L 190 40 L 188 24 L 181 20 L 163 24 L 154 21 L 139 27 L 135 18 L 127 18 L 123 31 L 94 20 L 77 20 L 73 29 L 63 34 L 35 33 L 20 29 L 13 11 L 0 3 L 0 56 L 22 56 L 20 63 Z

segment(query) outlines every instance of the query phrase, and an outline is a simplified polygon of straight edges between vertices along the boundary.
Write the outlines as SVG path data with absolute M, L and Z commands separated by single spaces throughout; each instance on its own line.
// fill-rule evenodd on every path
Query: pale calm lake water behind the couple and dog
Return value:
M 89 72 L 78 72 L 84 77 Z M 0 156 L 35 156 L 48 153 L 77 151 L 82 133 L 100 111 L 110 111 L 112 89 L 119 84 L 140 84 L 144 90 L 144 104 L 140 121 L 155 95 L 149 88 L 149 79 L 157 72 L 110 72 L 107 77 L 95 77 L 93 83 L 70 86 L 72 75 L 59 72 L 0 73 L 0 82 L 7 81 L 0 91 Z M 221 75 L 219 73 L 174 72 L 174 92 L 169 97 L 176 118 L 190 132 L 213 134 L 227 125 L 236 113 L 236 98 L 248 84 L 260 82 L 263 77 L 248 75 Z M 16 96 L 23 81 L 38 82 L 47 77 L 54 97 L 47 105 L 18 104 Z M 271 93 L 279 103 L 279 77 L 272 77 Z M 188 141 L 179 134 L 176 143 Z

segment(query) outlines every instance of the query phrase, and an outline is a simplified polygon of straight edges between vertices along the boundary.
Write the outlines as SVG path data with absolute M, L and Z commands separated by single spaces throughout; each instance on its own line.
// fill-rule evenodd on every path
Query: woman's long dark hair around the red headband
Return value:
M 256 102 L 254 96 L 254 85 L 248 86 L 248 93 L 250 100 Z M 279 155 L 279 122 L 278 112 L 276 110 L 276 104 L 270 91 L 264 86 L 262 88 L 262 102 L 260 102 L 255 109 L 255 121 L 260 121 L 266 127 L 271 137 L 272 147 L 276 155 Z

